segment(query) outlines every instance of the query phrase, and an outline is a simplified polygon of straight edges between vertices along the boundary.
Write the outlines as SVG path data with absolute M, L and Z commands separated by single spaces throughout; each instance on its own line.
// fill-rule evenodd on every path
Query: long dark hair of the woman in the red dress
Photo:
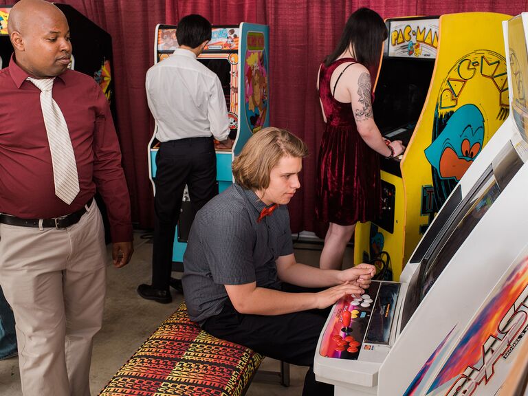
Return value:
M 325 58 L 325 65 L 336 61 L 351 45 L 355 60 L 368 69 L 379 61 L 387 35 L 387 27 L 380 14 L 369 8 L 359 8 L 344 25 L 338 46 Z

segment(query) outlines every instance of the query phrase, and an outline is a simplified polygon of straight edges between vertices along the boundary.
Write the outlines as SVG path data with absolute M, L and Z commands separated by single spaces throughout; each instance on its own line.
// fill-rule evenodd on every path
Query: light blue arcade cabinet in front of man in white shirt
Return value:
M 154 63 L 162 62 L 177 48 L 176 28 L 175 25 L 156 26 Z M 265 25 L 213 26 L 211 40 L 198 56 L 198 61 L 219 76 L 228 106 L 230 138 L 234 140 L 230 151 L 217 150 L 216 153 L 219 192 L 233 182 L 231 163 L 234 155 L 240 153 L 253 133 L 270 124 L 268 36 L 269 29 Z M 154 193 L 155 157 L 159 147 L 156 131 L 157 126 L 148 143 L 148 174 Z M 183 200 L 173 248 L 176 270 L 182 270 L 188 232 L 195 217 L 187 190 Z

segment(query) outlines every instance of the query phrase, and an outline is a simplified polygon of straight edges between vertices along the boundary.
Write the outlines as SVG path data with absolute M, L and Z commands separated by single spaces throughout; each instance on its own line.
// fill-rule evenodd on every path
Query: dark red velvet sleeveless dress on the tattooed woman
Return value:
M 362 140 L 350 103 L 333 98 L 330 78 L 342 58 L 329 67 L 321 65 L 319 97 L 327 124 L 318 157 L 316 216 L 320 221 L 353 225 L 372 221 L 380 213 L 380 159 Z M 374 86 L 375 71 L 371 71 Z M 339 84 L 339 82 L 338 82 Z

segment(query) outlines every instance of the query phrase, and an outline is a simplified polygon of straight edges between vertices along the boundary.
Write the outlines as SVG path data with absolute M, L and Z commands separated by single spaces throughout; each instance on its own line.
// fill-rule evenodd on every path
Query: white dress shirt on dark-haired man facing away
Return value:
M 160 142 L 229 135 L 228 110 L 220 80 L 197 61 L 194 52 L 178 48 L 146 72 L 148 108 Z

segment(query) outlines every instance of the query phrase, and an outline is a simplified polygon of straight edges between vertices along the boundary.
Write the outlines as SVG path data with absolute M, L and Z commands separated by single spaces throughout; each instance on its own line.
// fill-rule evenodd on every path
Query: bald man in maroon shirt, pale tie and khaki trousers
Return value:
M 109 212 L 113 264 L 122 267 L 133 252 L 120 148 L 102 90 L 68 69 L 72 43 L 61 10 L 21 0 L 8 31 L 14 56 L 0 72 L 0 286 L 17 322 L 22 391 L 89 396 L 108 261 L 96 189 Z

